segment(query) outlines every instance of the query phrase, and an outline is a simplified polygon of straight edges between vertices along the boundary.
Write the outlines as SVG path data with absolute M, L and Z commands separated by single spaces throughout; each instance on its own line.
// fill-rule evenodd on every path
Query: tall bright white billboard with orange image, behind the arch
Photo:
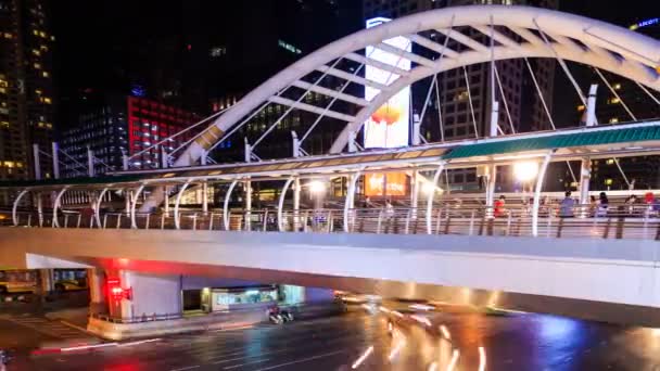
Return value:
M 391 20 L 377 17 L 367 20 L 367 28 L 378 26 Z M 385 40 L 384 43 L 395 48 L 410 51 L 410 40 L 405 37 L 395 37 Z M 401 69 L 409 71 L 410 61 L 373 47 L 367 47 L 366 55 Z M 390 85 L 399 76 L 370 65 L 365 67 L 365 77 L 368 80 Z M 365 88 L 365 99 L 371 101 L 380 93 L 379 89 L 372 87 Z M 365 148 L 396 148 L 408 145 L 410 128 L 410 87 L 401 90 L 392 97 L 385 104 L 378 108 L 365 123 Z

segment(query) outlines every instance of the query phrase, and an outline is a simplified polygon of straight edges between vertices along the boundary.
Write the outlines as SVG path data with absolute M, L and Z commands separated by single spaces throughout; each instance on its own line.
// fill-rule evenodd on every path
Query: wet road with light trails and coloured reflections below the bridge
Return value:
M 9 370 L 660 370 L 660 332 L 651 329 L 543 315 L 401 312 L 357 310 L 17 357 Z

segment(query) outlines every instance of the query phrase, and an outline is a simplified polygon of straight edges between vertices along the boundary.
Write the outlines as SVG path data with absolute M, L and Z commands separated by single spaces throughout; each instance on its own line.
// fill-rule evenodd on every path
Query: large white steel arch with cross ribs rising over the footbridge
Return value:
M 487 41 L 479 41 L 479 38 L 474 38 L 477 33 L 467 33 L 467 29 L 478 30 L 481 33 L 480 37 L 486 36 Z M 384 40 L 393 37 L 404 36 L 426 50 L 440 54 L 443 46 L 424 36 L 430 31 L 448 35 L 461 48 L 458 49 L 459 51 L 446 49 L 442 57 L 431 60 L 414 52 L 392 50 L 394 47 L 383 43 Z M 548 37 L 549 44 L 540 37 L 540 33 Z M 490 49 L 491 35 L 495 44 L 493 54 Z M 402 57 L 414 62 L 415 66 L 409 72 L 403 72 L 379 64 L 360 53 L 367 46 L 399 53 Z M 330 151 L 341 152 L 347 143 L 350 133 L 357 132 L 366 118 L 401 89 L 433 74 L 488 62 L 491 57 L 494 60 L 560 57 L 619 74 L 660 91 L 660 42 L 644 35 L 600 21 L 537 8 L 504 5 L 446 8 L 417 13 L 360 30 L 301 59 L 262 84 L 219 116 L 186 149 L 175 162 L 175 166 L 194 164 L 206 150 L 220 140 L 225 132 L 269 102 L 346 121 L 347 125 Z M 330 66 L 333 65 L 332 61 L 340 59 L 390 68 L 396 78 L 388 86 L 380 86 L 381 92 L 370 102 L 366 102 L 366 105 L 359 97 L 347 97 L 343 92 L 323 89 L 303 80 L 305 76 L 320 72 L 361 86 L 376 85 L 375 81 L 369 81 L 359 75 L 352 75 Z M 351 116 L 282 98 L 282 91 L 292 87 L 314 90 L 337 100 L 355 103 L 359 111 L 357 115 Z

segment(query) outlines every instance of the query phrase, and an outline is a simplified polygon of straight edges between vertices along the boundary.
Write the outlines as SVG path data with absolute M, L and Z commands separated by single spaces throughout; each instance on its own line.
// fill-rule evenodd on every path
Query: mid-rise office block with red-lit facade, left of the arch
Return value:
M 131 156 L 134 169 L 160 168 L 162 150 L 170 152 L 190 137 L 183 133 L 161 145 L 153 144 L 199 120 L 189 112 L 144 98 L 119 94 L 82 98 L 85 107 L 77 125 L 62 133 L 63 177 L 87 176 L 88 148 L 94 157 L 96 175 L 122 169 L 124 154 Z

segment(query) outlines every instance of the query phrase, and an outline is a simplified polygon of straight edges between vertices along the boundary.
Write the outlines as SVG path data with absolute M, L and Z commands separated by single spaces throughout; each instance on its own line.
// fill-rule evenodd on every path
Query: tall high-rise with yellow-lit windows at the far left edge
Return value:
M 54 93 L 48 0 L 0 0 L 0 180 L 35 176 L 33 144 L 50 151 Z M 41 162 L 42 178 L 52 167 Z

